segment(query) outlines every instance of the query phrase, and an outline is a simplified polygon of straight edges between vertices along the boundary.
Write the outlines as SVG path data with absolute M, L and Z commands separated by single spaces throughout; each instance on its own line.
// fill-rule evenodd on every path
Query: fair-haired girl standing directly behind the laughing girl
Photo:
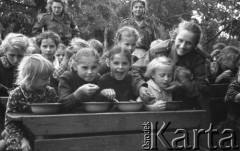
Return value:
M 115 45 L 126 47 L 132 54 L 136 48 L 138 40 L 139 40 L 138 31 L 133 27 L 124 26 L 117 31 L 114 43 Z M 107 62 L 109 61 L 108 55 L 109 51 L 103 54 L 103 57 L 101 58 L 101 68 L 99 71 L 101 75 L 110 71 L 109 67 L 107 66 Z M 132 62 L 135 62 L 136 60 L 137 58 L 135 56 L 132 56 Z

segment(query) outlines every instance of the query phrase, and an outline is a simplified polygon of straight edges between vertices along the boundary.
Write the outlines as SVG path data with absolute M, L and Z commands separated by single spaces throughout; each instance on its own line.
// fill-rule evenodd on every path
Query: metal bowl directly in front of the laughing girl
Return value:
M 121 101 L 116 103 L 117 109 L 122 112 L 136 112 L 140 111 L 143 107 L 142 102 Z

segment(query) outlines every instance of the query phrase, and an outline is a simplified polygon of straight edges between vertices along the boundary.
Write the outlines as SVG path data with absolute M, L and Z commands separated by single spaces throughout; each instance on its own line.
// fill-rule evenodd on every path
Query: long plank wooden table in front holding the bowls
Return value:
M 35 136 L 35 151 L 142 151 L 144 122 L 153 126 L 151 136 L 171 122 L 164 136 L 171 142 L 176 129 L 192 130 L 204 123 L 205 111 L 107 112 L 55 115 L 10 114 Z M 156 124 L 158 122 L 158 124 Z M 154 146 L 166 150 L 157 137 Z M 190 142 L 191 144 L 191 142 Z

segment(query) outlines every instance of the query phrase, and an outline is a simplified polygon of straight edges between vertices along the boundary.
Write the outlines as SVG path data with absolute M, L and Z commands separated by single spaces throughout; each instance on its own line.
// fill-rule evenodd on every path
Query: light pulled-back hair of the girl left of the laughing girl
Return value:
M 81 63 L 82 57 L 95 57 L 95 59 L 99 62 L 99 54 L 97 50 L 91 47 L 82 48 L 79 50 L 73 57 L 74 64 Z

